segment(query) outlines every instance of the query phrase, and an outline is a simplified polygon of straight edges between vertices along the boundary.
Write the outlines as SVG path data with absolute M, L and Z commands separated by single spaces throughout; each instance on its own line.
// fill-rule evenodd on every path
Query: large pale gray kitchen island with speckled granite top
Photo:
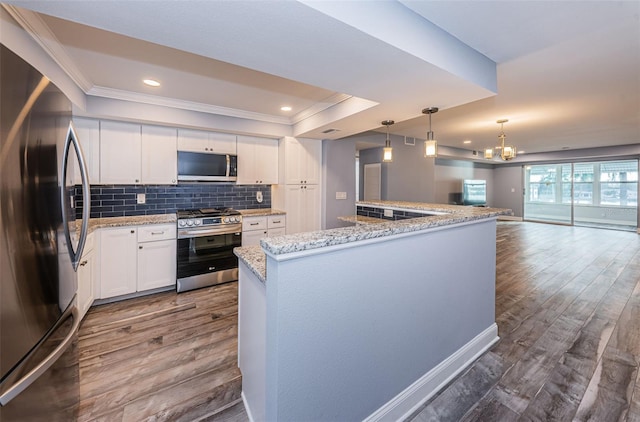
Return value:
M 238 248 L 239 365 L 255 421 L 398 420 L 497 340 L 496 218 L 431 214 Z

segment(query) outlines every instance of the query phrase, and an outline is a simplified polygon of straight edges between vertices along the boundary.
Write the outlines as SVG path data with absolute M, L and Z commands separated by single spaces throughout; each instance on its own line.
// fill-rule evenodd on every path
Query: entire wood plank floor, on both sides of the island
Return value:
M 640 421 L 640 236 L 499 222 L 500 342 L 412 421 Z M 91 308 L 81 421 L 244 422 L 237 284 Z

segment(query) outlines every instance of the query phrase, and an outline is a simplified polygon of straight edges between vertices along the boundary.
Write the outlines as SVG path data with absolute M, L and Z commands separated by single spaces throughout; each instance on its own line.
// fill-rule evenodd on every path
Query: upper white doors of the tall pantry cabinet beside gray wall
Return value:
M 280 183 L 319 184 L 322 141 L 284 137 L 280 140 L 280 163 Z

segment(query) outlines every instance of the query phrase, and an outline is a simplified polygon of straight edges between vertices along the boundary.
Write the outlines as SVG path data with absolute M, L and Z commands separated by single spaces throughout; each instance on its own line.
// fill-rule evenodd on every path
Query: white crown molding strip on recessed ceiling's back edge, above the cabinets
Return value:
M 198 111 L 202 113 L 217 114 L 240 119 L 258 120 L 268 123 L 291 125 L 288 117 L 272 116 L 269 114 L 255 113 L 252 111 L 238 110 L 235 108 L 221 107 L 211 104 L 197 103 L 194 101 L 178 100 L 175 98 L 160 97 L 157 95 L 140 94 L 137 92 L 124 91 L 120 89 L 94 86 L 87 92 L 87 95 L 94 97 L 111 98 L 114 100 L 132 101 L 142 104 L 157 105 L 182 110 Z

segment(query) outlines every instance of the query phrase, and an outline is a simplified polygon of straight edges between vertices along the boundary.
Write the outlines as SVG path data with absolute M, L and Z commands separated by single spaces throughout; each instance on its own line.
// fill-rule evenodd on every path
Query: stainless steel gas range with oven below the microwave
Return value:
M 242 244 L 242 215 L 231 208 L 178 211 L 177 290 L 238 279 L 233 248 Z

